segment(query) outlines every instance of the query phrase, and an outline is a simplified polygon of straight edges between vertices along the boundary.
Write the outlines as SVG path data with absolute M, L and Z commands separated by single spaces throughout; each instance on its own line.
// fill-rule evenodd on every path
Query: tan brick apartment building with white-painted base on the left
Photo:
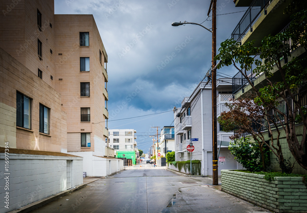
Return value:
M 117 172 L 122 161 L 106 157 L 114 156 L 105 146 L 107 53 L 93 16 L 55 15 L 53 0 L 1 1 L 0 9 L 3 168 L 5 146 L 10 154 L 10 203 L 0 211 L 7 212 L 82 184 L 82 172 Z

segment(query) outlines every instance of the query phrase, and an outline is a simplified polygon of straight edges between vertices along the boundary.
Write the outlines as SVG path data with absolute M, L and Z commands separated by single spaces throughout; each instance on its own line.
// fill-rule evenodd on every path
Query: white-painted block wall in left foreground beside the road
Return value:
M 14 209 L 66 190 L 66 164 L 72 160 L 72 187 L 83 183 L 82 158 L 45 155 L 9 155 L 10 174 L 1 174 L 0 212 Z M 0 153 L 4 168 L 4 153 Z M 9 178 L 5 178 L 9 176 Z M 7 181 L 7 180 L 9 181 Z M 8 184 L 6 184 L 8 182 Z M 9 185 L 9 188 L 5 188 Z M 5 208 L 5 195 L 9 192 L 9 209 Z

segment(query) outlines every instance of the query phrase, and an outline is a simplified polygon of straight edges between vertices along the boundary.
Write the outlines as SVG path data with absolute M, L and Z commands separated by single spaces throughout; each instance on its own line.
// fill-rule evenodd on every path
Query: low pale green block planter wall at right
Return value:
M 222 190 L 275 212 L 306 212 L 307 187 L 302 177 L 274 177 L 221 170 Z

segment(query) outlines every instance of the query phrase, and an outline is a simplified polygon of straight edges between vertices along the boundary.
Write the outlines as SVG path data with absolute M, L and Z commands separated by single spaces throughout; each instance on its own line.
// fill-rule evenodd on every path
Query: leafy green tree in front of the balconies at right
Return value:
M 215 57 L 215 60 L 221 60 L 218 68 L 233 64 L 251 86 L 251 94 L 250 99 L 243 95 L 235 100 L 242 103 L 240 106 L 235 103 L 231 106 L 243 116 L 241 119 L 235 118 L 238 114 L 222 113 L 219 122 L 228 130 L 232 128 L 238 133 L 237 137 L 246 131 L 258 140 L 259 145 L 267 145 L 278 157 L 281 168 L 285 165 L 280 144 L 283 130 L 291 154 L 307 170 L 307 156 L 303 150 L 307 128 L 307 10 L 293 14 L 291 19 L 293 21 L 285 32 L 264 37 L 260 47 L 255 47 L 252 41 L 243 45 L 233 40 L 221 43 L 220 53 Z M 305 53 L 291 56 L 299 46 Z M 292 60 L 287 63 L 288 58 Z M 262 83 L 265 84 L 254 85 L 251 75 L 264 76 Z M 244 106 L 244 102 L 249 105 Z M 246 110 L 248 107 L 250 110 Z M 249 115 L 250 112 L 254 114 Z M 299 123 L 301 125 L 297 126 Z M 255 128 L 247 128 L 247 125 Z M 302 131 L 298 132 L 298 128 Z M 264 129 L 271 135 L 270 142 L 265 141 Z

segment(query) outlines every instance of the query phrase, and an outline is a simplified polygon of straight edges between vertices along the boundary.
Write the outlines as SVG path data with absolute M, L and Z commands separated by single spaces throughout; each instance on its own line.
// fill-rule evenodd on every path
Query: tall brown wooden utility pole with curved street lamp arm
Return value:
M 180 26 L 185 24 L 199 25 L 212 33 L 212 174 L 213 174 L 213 185 L 219 184 L 218 179 L 218 159 L 217 159 L 217 118 L 216 118 L 216 0 L 211 0 L 212 6 L 212 31 L 203 25 L 192 23 L 192 22 L 173 22 L 172 26 Z M 210 9 L 209 9 L 210 12 Z M 208 12 L 208 15 L 209 15 Z

